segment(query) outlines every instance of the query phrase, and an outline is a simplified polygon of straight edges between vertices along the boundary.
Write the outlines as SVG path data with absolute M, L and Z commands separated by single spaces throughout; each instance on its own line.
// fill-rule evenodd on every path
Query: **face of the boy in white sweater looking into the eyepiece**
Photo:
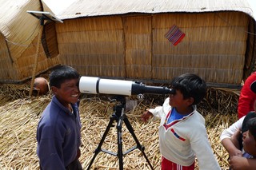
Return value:
M 169 105 L 176 108 L 178 113 L 182 113 L 183 111 L 186 111 L 190 105 L 193 104 L 194 99 L 192 97 L 189 97 L 187 99 L 183 98 L 183 94 L 180 90 L 175 90 L 175 94 L 170 94 L 170 101 Z

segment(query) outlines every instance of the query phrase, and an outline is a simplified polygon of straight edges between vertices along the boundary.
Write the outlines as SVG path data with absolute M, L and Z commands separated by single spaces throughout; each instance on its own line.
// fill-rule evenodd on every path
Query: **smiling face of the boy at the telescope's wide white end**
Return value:
M 68 107 L 70 103 L 74 104 L 78 101 L 80 95 L 78 81 L 79 79 L 70 79 L 64 81 L 59 89 L 54 86 L 52 87 L 55 97 L 65 107 Z

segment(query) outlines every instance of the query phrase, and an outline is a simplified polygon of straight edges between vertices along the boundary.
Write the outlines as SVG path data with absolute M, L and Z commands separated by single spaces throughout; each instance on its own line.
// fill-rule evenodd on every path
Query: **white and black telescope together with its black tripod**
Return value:
M 168 89 L 166 87 L 158 87 L 158 86 L 148 86 L 144 85 L 138 81 L 124 81 L 124 80 L 113 80 L 113 79 L 103 79 L 99 77 L 80 77 L 78 88 L 80 93 L 105 93 L 105 94 L 114 94 L 118 96 L 117 101 L 121 101 L 116 106 L 114 106 L 114 113 L 110 117 L 110 122 L 106 127 L 105 132 L 103 133 L 102 140 L 98 144 L 98 147 L 94 151 L 94 156 L 90 160 L 90 164 L 87 170 L 90 169 L 93 164 L 96 156 L 99 152 L 106 152 L 113 156 L 118 156 L 119 159 L 119 169 L 123 169 L 123 160 L 122 156 L 125 156 L 127 153 L 132 152 L 134 149 L 138 148 L 143 156 L 145 156 L 146 161 L 148 162 L 151 169 L 154 169 L 150 164 L 150 160 L 147 158 L 146 153 L 144 152 L 144 146 L 139 143 L 138 138 L 134 133 L 134 129 L 130 125 L 130 121 L 126 117 L 125 109 L 126 109 L 126 99 L 124 96 L 138 95 L 142 96 L 142 93 L 151 93 L 151 94 L 174 94 L 174 89 Z M 111 127 L 113 127 L 114 121 L 117 122 L 117 139 L 118 139 L 118 152 L 114 153 L 108 151 L 106 149 L 102 149 L 102 144 L 106 139 L 106 135 L 108 134 Z M 125 123 L 126 128 L 130 132 L 131 136 L 133 136 L 136 145 L 133 148 L 128 149 L 126 152 L 122 152 L 122 122 Z

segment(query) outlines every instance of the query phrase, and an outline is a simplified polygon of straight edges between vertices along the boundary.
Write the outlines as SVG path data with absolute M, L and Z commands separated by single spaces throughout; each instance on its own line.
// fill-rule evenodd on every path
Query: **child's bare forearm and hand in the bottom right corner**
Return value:
M 231 169 L 254 170 L 256 169 L 256 159 L 245 158 L 242 156 L 232 156 L 229 160 Z

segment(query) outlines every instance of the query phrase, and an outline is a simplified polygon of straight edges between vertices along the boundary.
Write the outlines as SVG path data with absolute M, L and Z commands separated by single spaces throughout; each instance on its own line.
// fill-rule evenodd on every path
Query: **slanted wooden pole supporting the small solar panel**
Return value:
M 39 55 L 39 49 L 40 49 L 40 45 L 41 45 L 42 30 L 43 30 L 43 25 L 41 24 L 39 34 L 38 34 L 37 51 L 36 51 L 35 57 L 34 57 L 34 68 L 33 68 L 33 73 L 32 73 L 31 84 L 30 84 L 30 97 L 32 96 L 32 91 L 33 91 L 33 86 L 34 86 L 34 77 L 35 77 L 35 74 L 37 73 L 37 69 L 38 69 L 38 55 Z

